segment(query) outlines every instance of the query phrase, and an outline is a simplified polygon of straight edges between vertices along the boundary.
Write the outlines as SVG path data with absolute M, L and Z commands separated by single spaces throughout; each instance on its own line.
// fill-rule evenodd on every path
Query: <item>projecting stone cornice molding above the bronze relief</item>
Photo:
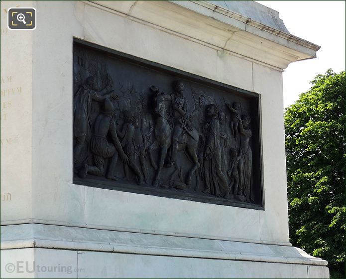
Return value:
M 281 71 L 291 62 L 315 58 L 320 49 L 282 28 L 270 27 L 209 1 L 84 2 Z M 261 7 L 251 1 L 246 6 L 254 13 Z M 281 19 L 277 15 L 273 20 Z

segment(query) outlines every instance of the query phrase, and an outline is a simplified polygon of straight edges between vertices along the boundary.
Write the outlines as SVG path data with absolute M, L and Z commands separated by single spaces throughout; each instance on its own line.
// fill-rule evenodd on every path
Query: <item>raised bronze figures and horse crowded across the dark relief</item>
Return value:
M 74 95 L 73 158 L 79 177 L 135 179 L 138 187 L 253 202 L 250 117 L 239 102 L 222 104 L 192 92 L 195 103 L 188 113 L 181 80 L 168 93 L 153 85 L 142 94 L 132 92 L 133 86 L 114 90 L 109 75 L 104 88 L 96 87 L 90 76 Z M 179 156 L 189 163 L 182 164 Z M 119 178 L 121 165 L 124 177 Z M 163 177 L 167 168 L 170 175 Z

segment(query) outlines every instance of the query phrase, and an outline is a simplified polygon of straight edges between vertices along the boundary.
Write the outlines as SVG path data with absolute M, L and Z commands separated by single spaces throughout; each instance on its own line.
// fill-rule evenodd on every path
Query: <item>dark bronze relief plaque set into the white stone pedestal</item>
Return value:
M 263 208 L 257 94 L 77 39 L 73 59 L 75 184 Z

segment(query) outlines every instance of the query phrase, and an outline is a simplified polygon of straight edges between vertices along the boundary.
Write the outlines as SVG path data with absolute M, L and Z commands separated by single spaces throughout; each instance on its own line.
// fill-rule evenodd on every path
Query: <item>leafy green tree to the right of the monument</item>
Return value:
M 285 112 L 290 237 L 345 278 L 345 71 L 311 84 Z

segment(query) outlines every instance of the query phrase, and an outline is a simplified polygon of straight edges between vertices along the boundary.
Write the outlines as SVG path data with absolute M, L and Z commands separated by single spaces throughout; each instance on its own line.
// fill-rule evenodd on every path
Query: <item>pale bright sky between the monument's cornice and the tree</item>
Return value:
M 283 73 L 284 107 L 307 91 L 317 74 L 345 70 L 345 1 L 256 1 L 277 10 L 292 35 L 321 46 L 317 58 L 291 63 Z

